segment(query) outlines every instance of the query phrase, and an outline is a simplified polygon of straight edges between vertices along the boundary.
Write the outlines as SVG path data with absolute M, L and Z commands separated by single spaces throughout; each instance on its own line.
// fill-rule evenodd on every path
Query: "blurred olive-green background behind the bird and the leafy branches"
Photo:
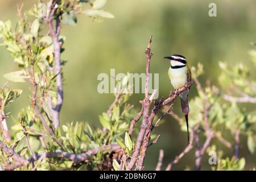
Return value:
M 9 0 L 0 2 L 1 20 L 17 20 L 16 5 L 24 3 L 24 9 L 30 9 L 38 1 Z M 217 4 L 217 17 L 209 17 L 209 3 Z M 64 106 L 61 122 L 84 121 L 92 126 L 100 126 L 98 115 L 108 109 L 113 102 L 112 94 L 97 92 L 97 76 L 99 73 L 143 73 L 147 39 L 153 35 L 151 72 L 159 73 L 159 96 L 168 96 L 172 86 L 167 77 L 169 67 L 164 56 L 178 53 L 187 57 L 189 65 L 198 62 L 204 64 L 205 74 L 201 81 L 209 78 L 218 85 L 220 74 L 218 61 L 228 64 L 250 64 L 248 51 L 250 42 L 256 41 L 256 1 L 170 1 L 141 0 L 118 1 L 109 0 L 104 10 L 115 15 L 115 19 L 104 22 L 93 22 L 85 15 L 79 15 L 76 27 L 64 26 L 62 35 L 67 37 L 64 44 L 63 60 L 68 63 L 64 67 Z M 0 47 L 0 85 L 7 80 L 5 73 L 18 70 L 5 47 Z M 250 67 L 250 65 L 249 65 Z M 255 71 L 251 70 L 252 77 Z M 29 104 L 29 85 L 10 83 L 11 88 L 23 89 L 22 96 L 10 105 L 7 110 L 11 116 L 17 117 L 18 110 Z M 196 94 L 192 88 L 191 98 Z M 143 94 L 134 94 L 131 103 L 139 109 L 139 100 Z M 181 115 L 179 101 L 176 113 Z M 256 109 L 255 105 L 242 105 Z M 11 117 L 7 120 L 9 126 Z M 161 138 L 154 147 L 150 147 L 146 157 L 146 169 L 154 169 L 158 160 L 159 149 L 164 149 L 164 167 L 173 160 L 187 144 L 187 134 L 171 117 L 158 127 L 154 133 Z M 185 124 L 185 123 L 184 123 Z M 230 134 L 229 134 L 230 135 Z M 227 150 L 220 144 L 220 148 Z M 232 156 L 230 151 L 226 154 Z M 246 169 L 256 163 L 256 155 L 250 155 L 245 138 L 241 139 L 241 156 L 246 158 Z M 195 150 L 185 155 L 173 169 L 184 169 L 186 165 L 193 167 Z M 203 158 L 203 169 L 210 169 L 208 156 Z

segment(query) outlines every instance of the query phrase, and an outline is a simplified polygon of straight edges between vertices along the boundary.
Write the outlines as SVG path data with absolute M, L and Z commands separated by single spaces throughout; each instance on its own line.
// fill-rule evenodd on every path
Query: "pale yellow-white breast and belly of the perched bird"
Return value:
M 187 67 L 168 70 L 168 76 L 174 89 L 179 89 L 187 83 Z

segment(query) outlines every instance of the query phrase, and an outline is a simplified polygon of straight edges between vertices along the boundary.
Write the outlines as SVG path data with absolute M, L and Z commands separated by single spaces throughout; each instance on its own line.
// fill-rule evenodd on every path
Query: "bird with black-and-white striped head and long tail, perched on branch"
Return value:
M 186 58 L 182 55 L 172 55 L 166 56 L 164 59 L 170 60 L 171 66 L 168 69 L 168 77 L 169 80 L 174 87 L 175 90 L 182 88 L 187 84 L 188 81 L 191 81 L 191 69 L 188 66 L 188 62 Z M 188 105 L 188 93 L 189 88 L 181 93 L 180 101 L 181 101 L 181 109 L 185 116 L 185 121 L 187 123 L 187 134 L 188 134 L 188 145 L 189 143 L 189 129 L 188 129 L 188 113 L 189 113 L 189 105 Z

